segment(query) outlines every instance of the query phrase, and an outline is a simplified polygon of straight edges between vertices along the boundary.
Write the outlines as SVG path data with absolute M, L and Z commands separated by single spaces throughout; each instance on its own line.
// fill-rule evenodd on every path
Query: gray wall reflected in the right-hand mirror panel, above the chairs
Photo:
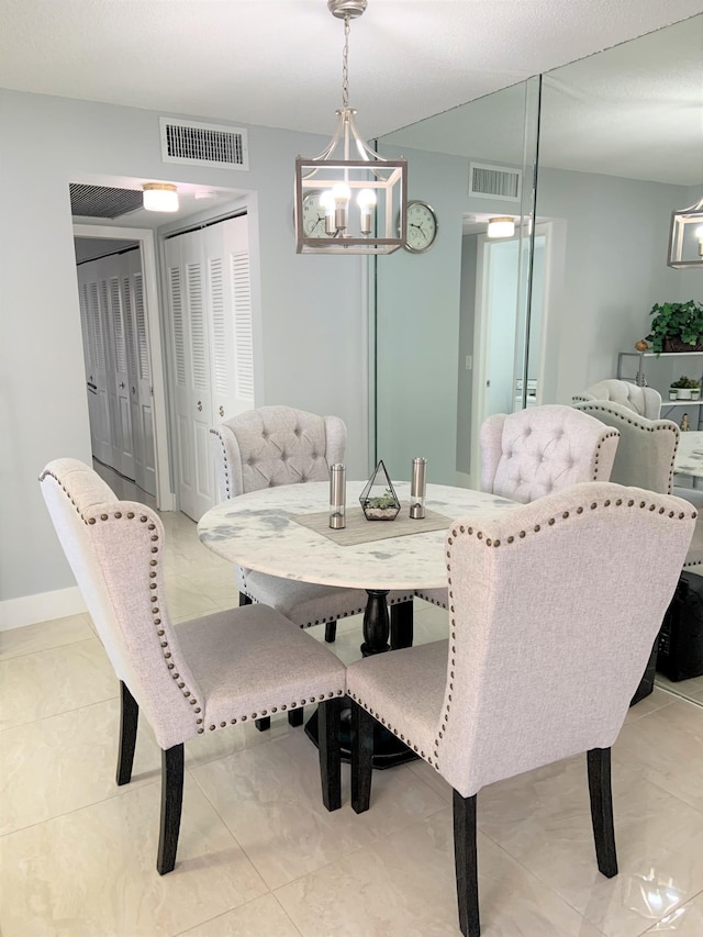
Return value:
M 680 186 L 539 170 L 537 215 L 561 220 L 561 288 L 547 344 L 555 402 L 570 403 L 574 393 L 614 377 L 617 353 L 634 350 L 647 335 L 656 302 L 701 299 L 703 269 L 666 265 L 671 212 L 692 200 Z

